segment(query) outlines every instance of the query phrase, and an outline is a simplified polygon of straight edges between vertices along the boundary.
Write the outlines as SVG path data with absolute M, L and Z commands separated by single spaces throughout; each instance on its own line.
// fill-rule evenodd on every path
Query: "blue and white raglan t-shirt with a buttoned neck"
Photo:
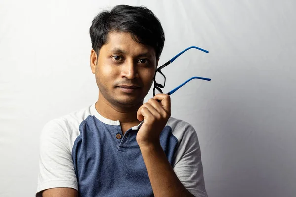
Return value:
M 74 188 L 79 197 L 153 196 L 138 130 L 134 126 L 123 135 L 120 122 L 101 116 L 95 104 L 49 121 L 41 133 L 36 196 L 57 187 Z M 170 117 L 160 144 L 185 188 L 207 197 L 194 128 Z

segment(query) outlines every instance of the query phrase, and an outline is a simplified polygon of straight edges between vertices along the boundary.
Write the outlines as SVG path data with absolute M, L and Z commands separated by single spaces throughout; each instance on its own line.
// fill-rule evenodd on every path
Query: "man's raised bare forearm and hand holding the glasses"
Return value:
M 194 197 L 178 179 L 160 146 L 159 136 L 170 117 L 170 108 L 166 94 L 155 95 L 139 108 L 137 118 L 144 123 L 137 133 L 137 142 L 155 197 Z

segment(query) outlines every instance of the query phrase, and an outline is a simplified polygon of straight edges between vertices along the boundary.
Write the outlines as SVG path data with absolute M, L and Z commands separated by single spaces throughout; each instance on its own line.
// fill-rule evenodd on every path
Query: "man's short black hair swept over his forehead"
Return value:
M 133 40 L 154 48 L 156 58 L 164 45 L 164 32 L 158 18 L 148 8 L 117 5 L 110 11 L 104 10 L 92 21 L 89 28 L 92 48 L 99 52 L 106 44 L 108 33 L 111 31 L 129 32 Z

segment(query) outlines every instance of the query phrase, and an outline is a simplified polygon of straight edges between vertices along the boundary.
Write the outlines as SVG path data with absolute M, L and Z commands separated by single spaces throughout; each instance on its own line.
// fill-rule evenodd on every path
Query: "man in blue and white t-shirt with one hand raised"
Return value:
M 90 36 L 99 98 L 43 128 L 36 196 L 207 197 L 194 128 L 170 117 L 166 94 L 143 104 L 165 40 L 158 19 L 118 5 Z

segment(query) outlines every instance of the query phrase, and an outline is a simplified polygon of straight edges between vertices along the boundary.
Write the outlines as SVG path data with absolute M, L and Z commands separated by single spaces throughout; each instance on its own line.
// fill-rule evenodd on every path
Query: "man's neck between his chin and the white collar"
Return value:
M 140 123 L 137 119 L 137 111 L 143 104 L 143 101 L 135 106 L 124 107 L 119 105 L 112 105 L 108 102 L 102 94 L 99 93 L 99 99 L 95 104 L 96 110 L 101 116 L 110 120 L 119 120 L 120 124 L 136 125 Z

